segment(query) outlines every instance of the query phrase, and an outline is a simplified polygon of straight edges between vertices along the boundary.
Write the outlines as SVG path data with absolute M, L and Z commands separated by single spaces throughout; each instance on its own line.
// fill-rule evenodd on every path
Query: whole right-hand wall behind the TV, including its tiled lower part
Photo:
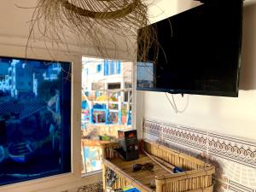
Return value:
M 197 3 L 192 0 L 161 0 L 158 5 L 166 10 L 166 15 L 153 21 L 175 15 Z M 151 10 L 160 13 L 156 11 L 159 10 L 157 7 Z M 239 97 L 174 95 L 177 108 L 183 111 L 174 113 L 165 93 L 137 91 L 137 129 L 142 127 L 143 118 L 146 118 L 145 134 L 141 135 L 211 162 L 216 168 L 214 191 L 256 191 L 255 160 L 250 161 L 245 157 L 247 154 L 230 155 L 225 149 L 212 149 L 209 143 L 197 148 L 197 143 L 193 142 L 193 137 L 199 137 L 222 146 L 240 148 L 240 153 L 252 150 L 255 154 L 256 0 L 245 1 L 242 38 Z M 169 98 L 172 101 L 171 95 Z

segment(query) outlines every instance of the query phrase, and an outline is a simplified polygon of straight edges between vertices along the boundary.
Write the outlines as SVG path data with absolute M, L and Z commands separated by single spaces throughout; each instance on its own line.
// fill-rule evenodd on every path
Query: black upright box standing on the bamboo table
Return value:
M 124 160 L 137 160 L 139 158 L 137 131 L 118 131 L 120 156 Z

